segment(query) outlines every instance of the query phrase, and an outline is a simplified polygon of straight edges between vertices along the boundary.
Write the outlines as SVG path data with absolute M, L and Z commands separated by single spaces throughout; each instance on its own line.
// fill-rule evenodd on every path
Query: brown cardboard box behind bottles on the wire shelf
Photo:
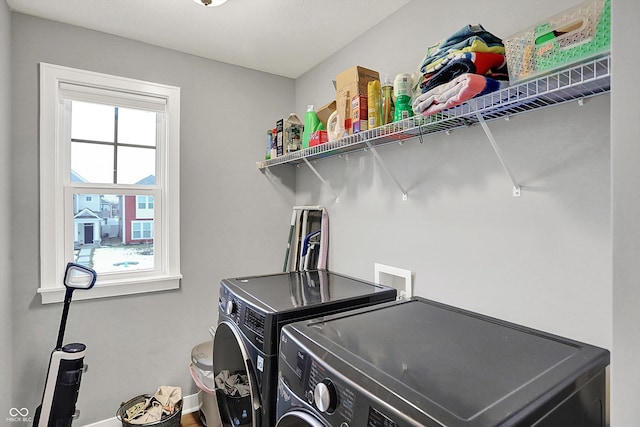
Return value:
M 369 82 L 380 80 L 380 74 L 377 71 L 368 68 L 355 66 L 338 74 L 336 77 L 336 109 L 338 115 L 344 116 L 344 128 L 349 134 L 353 133 L 353 108 L 351 103 L 354 97 L 362 95 L 367 96 L 367 86 Z M 362 117 L 367 118 L 367 113 Z M 356 128 L 360 130 L 360 125 Z M 366 128 L 365 128 L 366 129 Z

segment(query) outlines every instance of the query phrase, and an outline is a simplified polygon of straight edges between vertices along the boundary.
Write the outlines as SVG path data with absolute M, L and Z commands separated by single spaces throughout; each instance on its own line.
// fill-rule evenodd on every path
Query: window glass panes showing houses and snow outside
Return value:
M 156 127 L 155 112 L 71 102 L 75 262 L 99 273 L 154 268 L 155 204 L 146 189 L 155 186 Z

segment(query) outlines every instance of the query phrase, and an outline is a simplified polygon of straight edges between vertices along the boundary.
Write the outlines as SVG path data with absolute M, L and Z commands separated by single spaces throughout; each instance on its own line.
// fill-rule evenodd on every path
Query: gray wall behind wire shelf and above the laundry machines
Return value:
M 393 78 L 467 24 L 506 38 L 575 4 L 412 1 L 298 78 L 297 111 L 334 98 L 331 80 L 353 65 Z M 489 122 L 521 197 L 473 126 L 378 150 L 407 201 L 370 152 L 315 162 L 329 188 L 298 168 L 296 200 L 328 208 L 335 271 L 411 270 L 416 295 L 610 348 L 609 107 L 607 94 Z

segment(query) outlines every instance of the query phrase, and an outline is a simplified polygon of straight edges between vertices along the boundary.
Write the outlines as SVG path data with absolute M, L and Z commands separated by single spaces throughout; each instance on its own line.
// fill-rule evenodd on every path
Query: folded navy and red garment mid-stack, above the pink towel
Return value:
M 465 52 L 456 54 L 447 59 L 445 65 L 436 73 L 426 75 L 420 90 L 428 92 L 436 86 L 450 82 L 454 78 L 466 74 L 506 74 L 507 61 L 505 56 L 499 53 Z

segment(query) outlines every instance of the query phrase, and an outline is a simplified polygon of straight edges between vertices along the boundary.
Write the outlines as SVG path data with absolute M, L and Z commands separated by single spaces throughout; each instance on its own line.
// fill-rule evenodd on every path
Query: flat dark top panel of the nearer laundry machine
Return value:
M 604 349 L 422 298 L 285 331 L 423 425 L 516 425 L 550 393 L 609 364 Z

